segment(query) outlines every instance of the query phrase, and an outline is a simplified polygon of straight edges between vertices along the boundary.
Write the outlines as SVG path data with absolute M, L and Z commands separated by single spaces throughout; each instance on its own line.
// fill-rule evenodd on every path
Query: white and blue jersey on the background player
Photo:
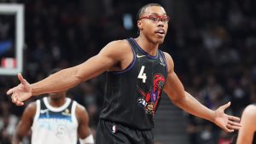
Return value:
M 78 121 L 76 102 L 67 99 L 62 107 L 51 107 L 45 97 L 37 101 L 32 124 L 32 144 L 76 144 Z

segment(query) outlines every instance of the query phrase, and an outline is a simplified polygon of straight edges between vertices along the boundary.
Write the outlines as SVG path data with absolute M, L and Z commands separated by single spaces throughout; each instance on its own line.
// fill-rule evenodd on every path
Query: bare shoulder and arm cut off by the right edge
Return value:
M 256 105 L 245 108 L 241 115 L 241 129 L 238 132 L 236 144 L 256 144 Z

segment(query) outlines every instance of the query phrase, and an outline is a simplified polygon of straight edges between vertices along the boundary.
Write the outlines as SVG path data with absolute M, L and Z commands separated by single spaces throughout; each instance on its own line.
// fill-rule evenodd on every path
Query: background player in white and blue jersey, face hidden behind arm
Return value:
M 81 144 L 93 144 L 88 124 L 85 108 L 67 98 L 65 90 L 50 93 L 26 107 L 12 144 L 20 144 L 30 130 L 32 144 L 76 144 L 78 137 Z

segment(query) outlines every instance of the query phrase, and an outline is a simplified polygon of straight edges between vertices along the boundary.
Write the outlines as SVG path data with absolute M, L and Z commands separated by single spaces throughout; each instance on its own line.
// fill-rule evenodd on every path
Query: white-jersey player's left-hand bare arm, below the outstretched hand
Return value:
M 29 104 L 22 114 L 19 124 L 15 129 L 15 134 L 12 137 L 12 144 L 20 144 L 23 137 L 25 137 L 28 131 L 32 127 L 33 118 L 37 110 L 37 105 L 35 102 Z

